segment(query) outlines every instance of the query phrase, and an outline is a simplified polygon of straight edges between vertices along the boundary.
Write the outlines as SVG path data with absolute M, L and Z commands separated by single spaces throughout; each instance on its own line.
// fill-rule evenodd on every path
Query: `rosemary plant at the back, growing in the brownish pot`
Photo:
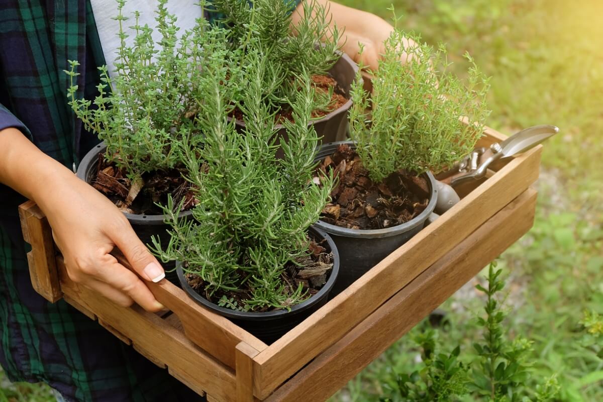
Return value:
M 341 32 L 335 25 L 330 27 L 329 10 L 315 0 L 304 0 L 303 15 L 292 27 L 295 4 L 291 0 L 215 0 L 209 8 L 230 28 L 233 48 L 242 51 L 241 66 L 248 64 L 248 54 L 264 55 L 262 99 L 274 113 L 291 108 L 296 93 L 303 90 L 300 75 L 325 75 L 340 57 Z M 229 79 L 244 83 L 232 74 Z M 315 92 L 315 110 L 327 110 L 331 96 L 332 90 Z M 241 91 L 230 100 L 241 103 L 243 98 Z

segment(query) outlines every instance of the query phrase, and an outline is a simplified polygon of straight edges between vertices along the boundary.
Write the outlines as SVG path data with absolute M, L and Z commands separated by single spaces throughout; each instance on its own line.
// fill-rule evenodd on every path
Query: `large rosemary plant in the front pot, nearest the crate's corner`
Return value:
M 286 266 L 309 256 L 308 227 L 317 221 L 327 202 L 333 180 L 312 183 L 318 137 L 308 126 L 315 106 L 307 72 L 292 103 L 295 122 L 285 121 L 289 140 L 280 144 L 277 159 L 273 112 L 263 101 L 267 58 L 247 52 L 242 74 L 247 82 L 243 112 L 245 129 L 236 133 L 229 122 L 230 96 L 235 89 L 224 83 L 229 71 L 206 65 L 210 73 L 202 85 L 206 96 L 198 104 L 195 124 L 204 132 L 203 147 L 180 144 L 190 181 L 198 199 L 194 221 L 177 218 L 173 203 L 165 213 L 171 224 L 166 248 L 153 240 L 163 261 L 180 260 L 194 274 L 214 303 L 238 310 L 286 308 L 305 300 L 302 287 L 283 280 Z M 232 300 L 227 292 L 238 292 Z

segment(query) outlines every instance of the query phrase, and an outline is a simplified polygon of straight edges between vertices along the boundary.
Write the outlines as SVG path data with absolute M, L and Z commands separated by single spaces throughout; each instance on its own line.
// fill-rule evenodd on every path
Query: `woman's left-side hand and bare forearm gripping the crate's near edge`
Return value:
M 152 312 L 163 308 L 144 282 L 110 254 L 118 247 L 145 280 L 165 277 L 124 214 L 14 128 L 0 131 L 0 182 L 34 199 L 46 214 L 71 280 L 121 306 L 134 301 Z

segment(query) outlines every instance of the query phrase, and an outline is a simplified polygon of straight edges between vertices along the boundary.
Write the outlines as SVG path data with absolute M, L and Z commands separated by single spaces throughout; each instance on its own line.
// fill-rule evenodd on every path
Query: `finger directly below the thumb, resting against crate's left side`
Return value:
M 147 311 L 157 312 L 165 309 L 165 307 L 155 299 L 144 282 L 140 280 L 134 272 L 125 268 L 125 266 L 118 262 L 99 269 L 99 273 L 96 275 L 96 281 L 101 281 L 116 291 L 127 295 Z

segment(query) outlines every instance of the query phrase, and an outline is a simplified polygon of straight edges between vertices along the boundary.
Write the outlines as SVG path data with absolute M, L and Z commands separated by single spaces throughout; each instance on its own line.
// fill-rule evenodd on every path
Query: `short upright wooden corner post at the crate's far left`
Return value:
M 54 240 L 46 216 L 33 202 L 19 206 L 21 229 L 26 242 L 31 244 L 30 266 L 31 285 L 43 298 L 54 303 L 62 297 L 55 264 Z

